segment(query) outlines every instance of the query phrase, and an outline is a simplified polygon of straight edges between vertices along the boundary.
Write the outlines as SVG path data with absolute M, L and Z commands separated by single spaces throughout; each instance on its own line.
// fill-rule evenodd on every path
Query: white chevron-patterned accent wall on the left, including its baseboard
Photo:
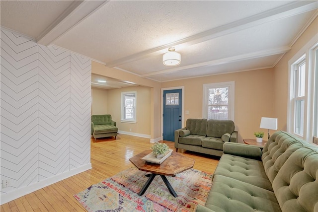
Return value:
M 1 203 L 91 168 L 91 61 L 1 29 Z

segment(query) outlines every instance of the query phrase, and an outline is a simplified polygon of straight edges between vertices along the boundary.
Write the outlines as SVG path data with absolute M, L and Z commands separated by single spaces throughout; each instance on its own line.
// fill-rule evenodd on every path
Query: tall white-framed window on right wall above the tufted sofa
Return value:
M 287 131 L 309 142 L 318 136 L 317 46 L 317 38 L 312 39 L 289 61 Z

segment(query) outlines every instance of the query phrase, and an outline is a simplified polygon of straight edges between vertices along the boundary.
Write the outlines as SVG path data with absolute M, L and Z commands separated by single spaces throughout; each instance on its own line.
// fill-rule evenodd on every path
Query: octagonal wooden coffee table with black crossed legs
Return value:
M 147 180 L 144 187 L 140 190 L 138 195 L 143 195 L 148 189 L 151 182 L 154 180 L 154 178 L 157 175 L 160 175 L 164 184 L 169 189 L 169 192 L 173 195 L 173 197 L 177 197 L 177 194 L 173 190 L 165 175 L 175 176 L 180 172 L 192 168 L 194 165 L 194 159 L 183 156 L 182 154 L 177 153 L 175 151 L 173 151 L 171 155 L 167 159 L 165 159 L 161 164 L 150 163 L 141 159 L 147 154 L 151 153 L 151 151 L 152 150 L 143 151 L 129 159 L 130 162 L 132 162 L 139 170 L 151 173 L 146 174 L 146 176 L 149 177 L 149 179 Z

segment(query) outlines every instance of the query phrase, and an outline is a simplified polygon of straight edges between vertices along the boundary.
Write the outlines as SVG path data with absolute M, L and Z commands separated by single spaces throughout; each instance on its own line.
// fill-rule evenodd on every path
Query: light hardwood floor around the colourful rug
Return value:
M 175 151 L 174 142 L 159 142 L 167 143 Z M 123 134 L 118 135 L 117 140 L 106 138 L 95 142 L 91 139 L 92 169 L 3 204 L 1 212 L 85 212 L 73 195 L 132 167 L 129 158 L 152 145 L 149 139 Z M 219 157 L 187 151 L 182 154 L 195 159 L 193 168 L 208 173 L 213 173 L 219 162 Z

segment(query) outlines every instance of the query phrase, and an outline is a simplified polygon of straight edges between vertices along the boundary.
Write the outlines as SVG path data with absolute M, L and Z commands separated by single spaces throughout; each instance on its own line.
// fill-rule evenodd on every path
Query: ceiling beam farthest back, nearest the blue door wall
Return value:
M 168 69 L 168 70 L 146 73 L 146 74 L 140 75 L 140 77 L 150 77 L 150 76 L 173 73 L 176 71 L 185 71 L 188 69 L 195 69 L 195 68 L 200 68 L 200 67 L 218 66 L 218 65 L 222 65 L 222 64 L 229 64 L 229 63 L 234 63 L 234 62 L 239 62 L 239 61 L 244 61 L 244 60 L 250 60 L 250 59 L 255 59 L 255 58 L 267 57 L 267 56 L 271 56 L 271 55 L 283 54 L 283 53 L 287 53 L 289 50 L 291 50 L 291 47 L 284 46 L 284 47 L 277 48 L 277 49 L 252 52 L 252 53 L 248 53 L 248 54 L 233 56 L 233 57 L 229 57 L 229 58 L 222 58 L 222 59 L 218 59 L 218 60 L 208 61 L 208 62 L 189 65 L 189 66 L 183 66 L 183 67 L 177 67 L 177 68 Z

